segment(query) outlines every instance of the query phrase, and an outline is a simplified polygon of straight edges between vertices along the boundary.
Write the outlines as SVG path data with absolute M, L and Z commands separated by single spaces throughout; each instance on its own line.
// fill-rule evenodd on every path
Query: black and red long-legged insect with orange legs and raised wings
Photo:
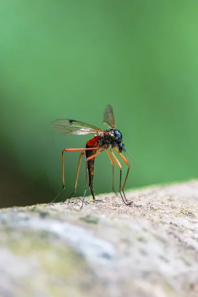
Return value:
M 106 151 L 112 165 L 112 189 L 114 190 L 114 160 L 117 163 L 119 169 L 120 169 L 120 180 L 119 180 L 119 193 L 123 200 L 123 202 L 126 205 L 133 204 L 134 206 L 139 206 L 133 203 L 132 201 L 129 202 L 125 196 L 124 188 L 127 181 L 127 177 L 130 170 L 130 163 L 127 160 L 126 156 L 126 149 L 122 142 L 122 134 L 119 130 L 115 128 L 115 120 L 113 115 L 113 109 L 111 105 L 107 105 L 104 114 L 103 114 L 103 124 L 107 125 L 109 129 L 101 130 L 97 127 L 94 127 L 89 124 L 85 124 L 83 122 L 71 120 L 71 119 L 58 119 L 52 122 L 52 128 L 58 132 L 60 132 L 63 135 L 86 135 L 86 134 L 95 134 L 95 136 L 88 140 L 86 143 L 86 148 L 64 148 L 62 150 L 62 190 L 65 190 L 65 180 L 64 180 L 64 152 L 66 151 L 82 151 L 80 153 L 79 162 L 78 162 L 78 168 L 77 168 L 77 174 L 76 174 L 76 182 L 73 192 L 69 197 L 66 199 L 71 198 L 71 196 L 76 193 L 77 189 L 77 183 L 78 183 L 78 176 L 79 176 L 79 170 L 81 165 L 81 158 L 83 155 L 85 155 L 86 158 L 86 186 L 85 186 L 85 192 L 82 200 L 81 208 L 83 207 L 83 203 L 85 200 L 85 195 L 87 191 L 87 172 L 89 173 L 89 188 L 92 194 L 92 197 L 94 200 L 95 198 L 95 192 L 94 192 L 94 162 L 96 156 L 98 156 L 102 151 Z M 128 169 L 126 173 L 126 177 L 124 180 L 124 184 L 121 187 L 121 180 L 122 180 L 122 167 L 118 160 L 118 158 L 115 156 L 113 149 L 120 155 L 120 157 L 123 159 L 123 161 L 127 164 Z M 122 155 L 122 152 L 124 152 L 125 157 Z M 127 152 L 128 153 L 128 152 Z M 128 153 L 129 154 L 129 153 Z M 133 157 L 129 154 L 129 156 L 133 159 Z M 133 159 L 135 162 L 135 160 Z M 135 162 L 137 165 L 137 163 Z M 138 165 L 137 165 L 138 166 Z M 60 192 L 61 193 L 61 192 Z M 59 193 L 59 194 L 60 194 Z M 56 196 L 56 198 L 59 196 L 59 194 Z M 53 203 L 56 198 L 54 198 L 51 203 Z M 65 200 L 66 200 L 65 199 Z M 64 202 L 63 200 L 62 202 Z

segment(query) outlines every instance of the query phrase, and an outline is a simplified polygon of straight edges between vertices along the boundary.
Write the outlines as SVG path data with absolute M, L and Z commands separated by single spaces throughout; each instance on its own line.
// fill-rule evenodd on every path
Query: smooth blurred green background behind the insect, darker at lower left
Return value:
M 197 11 L 191 0 L 1 0 L 0 206 L 52 200 L 62 148 L 90 137 L 64 137 L 51 121 L 106 129 L 108 103 L 139 164 L 126 188 L 198 177 Z M 68 194 L 78 156 L 65 155 Z M 96 194 L 110 192 L 106 153 L 95 171 Z M 79 196 L 84 181 L 83 160 Z

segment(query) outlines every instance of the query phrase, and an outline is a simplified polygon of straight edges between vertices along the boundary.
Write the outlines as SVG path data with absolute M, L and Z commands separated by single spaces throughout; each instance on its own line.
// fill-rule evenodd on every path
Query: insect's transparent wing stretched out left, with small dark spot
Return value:
M 86 134 L 98 134 L 103 133 L 97 127 L 85 124 L 83 122 L 69 120 L 69 119 L 59 119 L 51 123 L 52 128 L 63 135 L 86 135 Z

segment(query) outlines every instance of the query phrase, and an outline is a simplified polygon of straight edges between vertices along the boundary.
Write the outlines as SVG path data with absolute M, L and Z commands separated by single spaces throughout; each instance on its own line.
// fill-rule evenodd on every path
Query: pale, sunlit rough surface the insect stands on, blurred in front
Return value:
M 198 181 L 0 210 L 1 297 L 197 297 Z

